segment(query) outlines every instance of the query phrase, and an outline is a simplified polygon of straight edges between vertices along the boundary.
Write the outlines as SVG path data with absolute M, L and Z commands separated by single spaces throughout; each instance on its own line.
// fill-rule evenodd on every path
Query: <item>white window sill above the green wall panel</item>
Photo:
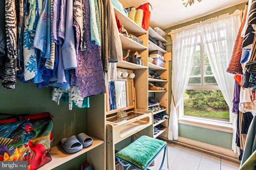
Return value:
M 196 127 L 202 127 L 207 129 L 213 129 L 217 131 L 223 131 L 228 133 L 233 133 L 233 125 L 232 123 L 225 122 L 225 121 L 210 121 L 207 119 L 197 119 L 194 117 L 184 116 L 180 119 L 178 119 L 178 123 L 185 124 L 185 125 L 191 125 Z

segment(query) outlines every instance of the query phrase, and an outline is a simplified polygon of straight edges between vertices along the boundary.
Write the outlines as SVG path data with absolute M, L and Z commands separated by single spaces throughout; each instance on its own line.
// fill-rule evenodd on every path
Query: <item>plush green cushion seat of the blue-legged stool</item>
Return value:
M 146 166 L 166 145 L 166 142 L 148 136 L 141 136 L 136 141 L 116 153 L 116 156 L 145 170 Z

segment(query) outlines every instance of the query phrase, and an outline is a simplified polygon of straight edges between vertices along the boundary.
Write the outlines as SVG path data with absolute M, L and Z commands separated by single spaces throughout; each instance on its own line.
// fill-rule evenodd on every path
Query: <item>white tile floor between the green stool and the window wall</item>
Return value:
M 150 170 L 159 170 L 162 156 L 163 152 L 157 156 L 155 165 L 150 166 Z M 167 166 L 167 156 L 169 166 Z M 167 156 L 162 170 L 238 170 L 240 166 L 237 162 L 175 145 L 174 143 L 168 143 Z M 136 169 L 130 167 L 129 170 Z

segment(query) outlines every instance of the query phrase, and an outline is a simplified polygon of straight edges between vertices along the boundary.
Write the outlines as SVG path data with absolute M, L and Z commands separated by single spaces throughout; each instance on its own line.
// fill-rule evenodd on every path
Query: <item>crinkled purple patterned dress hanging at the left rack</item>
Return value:
M 88 0 L 84 0 L 86 27 L 86 51 L 80 51 L 80 28 L 76 20 L 74 27 L 76 29 L 76 55 L 77 68 L 76 80 L 82 94 L 82 98 L 92 95 L 106 93 L 102 62 L 100 57 L 100 47 L 91 41 L 90 31 L 90 5 Z

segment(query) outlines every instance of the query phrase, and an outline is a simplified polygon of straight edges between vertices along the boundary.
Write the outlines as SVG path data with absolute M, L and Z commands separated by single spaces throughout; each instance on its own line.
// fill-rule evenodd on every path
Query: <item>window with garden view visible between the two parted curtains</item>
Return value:
M 181 116 L 229 122 L 229 107 L 214 78 L 200 35 L 197 42 Z

